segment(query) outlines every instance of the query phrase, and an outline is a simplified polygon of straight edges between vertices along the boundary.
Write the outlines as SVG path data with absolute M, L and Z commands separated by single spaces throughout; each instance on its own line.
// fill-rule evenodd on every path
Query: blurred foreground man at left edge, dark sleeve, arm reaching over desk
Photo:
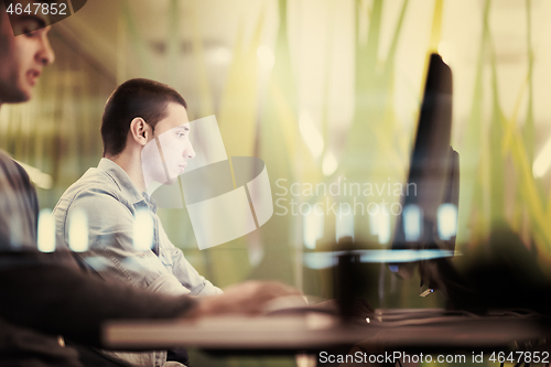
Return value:
M 28 2 L 20 3 L 24 8 Z M 42 14 L 9 19 L 0 1 L 0 107 L 29 100 L 43 68 L 54 61 L 46 23 Z M 24 34 L 14 36 L 12 28 Z M 36 193 L 29 176 L 0 152 L 2 366 L 83 366 L 78 353 L 64 346 L 57 335 L 100 347 L 106 320 L 255 314 L 274 296 L 296 293 L 280 283 L 247 282 L 197 300 L 107 282 L 79 270 L 68 251 L 39 252 L 36 222 Z

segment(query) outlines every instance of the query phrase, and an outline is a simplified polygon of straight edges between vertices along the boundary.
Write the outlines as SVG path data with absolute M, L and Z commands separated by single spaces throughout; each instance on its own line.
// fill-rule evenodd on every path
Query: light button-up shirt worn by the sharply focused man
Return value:
M 137 249 L 133 244 L 134 217 L 141 208 L 153 217 L 152 249 Z M 77 211 L 84 211 L 88 218 L 89 248 L 75 255 L 102 278 L 172 295 L 222 293 L 171 242 L 154 202 L 111 160 L 101 159 L 97 169 L 89 169 L 61 197 L 53 212 L 57 248 L 69 247 L 68 225 Z

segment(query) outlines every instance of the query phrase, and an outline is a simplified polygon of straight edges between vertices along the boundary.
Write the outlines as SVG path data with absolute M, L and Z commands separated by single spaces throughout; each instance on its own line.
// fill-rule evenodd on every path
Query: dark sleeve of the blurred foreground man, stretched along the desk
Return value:
M 8 256 L 9 258 L 6 258 Z M 190 296 L 169 296 L 106 282 L 45 261 L 47 253 L 0 253 L 24 266 L 0 267 L 0 316 L 43 333 L 101 346 L 101 325 L 118 319 L 169 319 L 191 310 Z

